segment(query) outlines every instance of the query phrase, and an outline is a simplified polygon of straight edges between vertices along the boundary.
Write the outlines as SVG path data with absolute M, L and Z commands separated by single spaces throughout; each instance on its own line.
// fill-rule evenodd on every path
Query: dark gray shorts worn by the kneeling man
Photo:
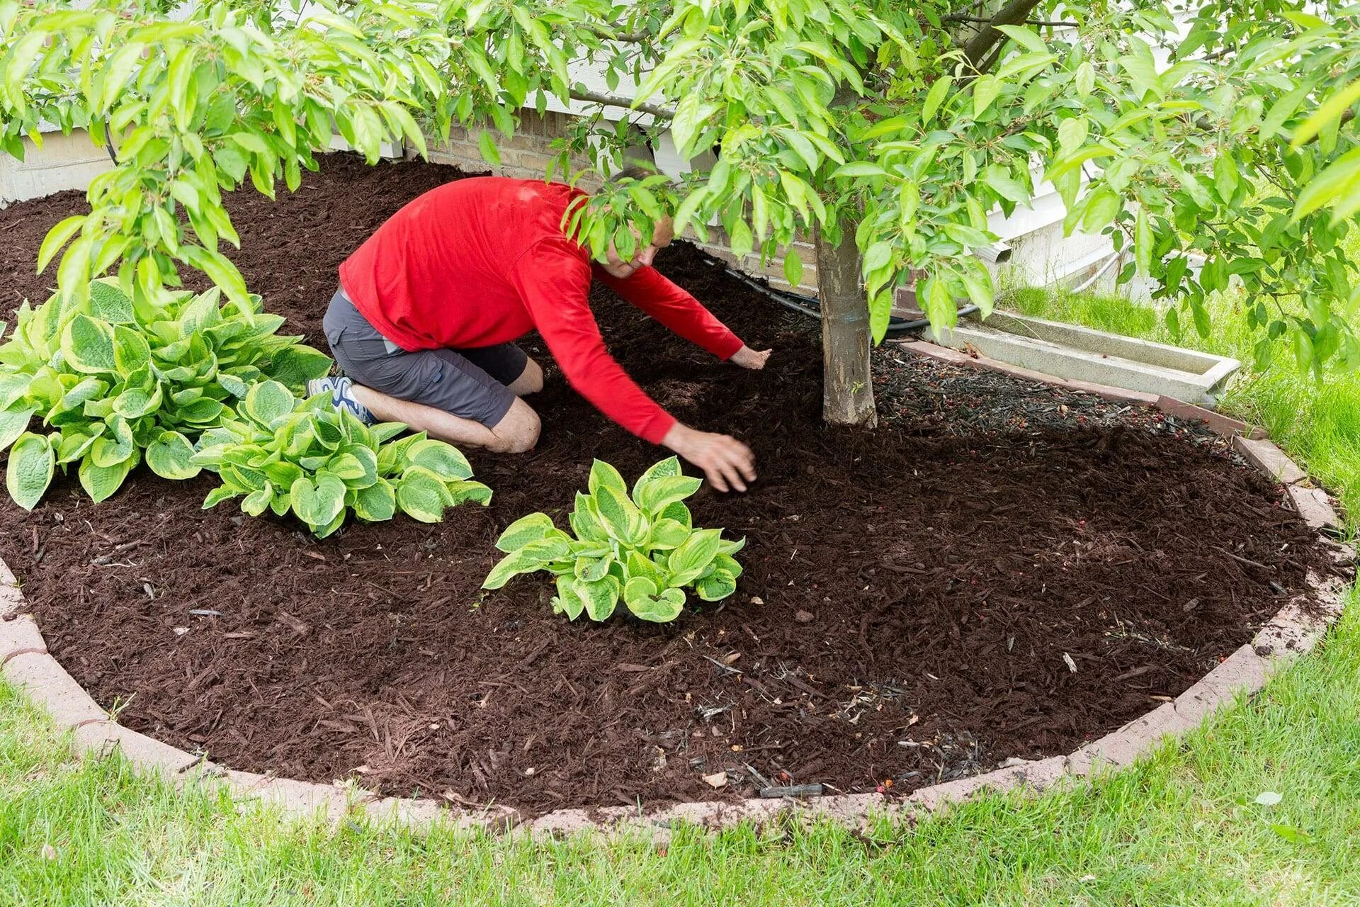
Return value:
M 378 333 L 344 290 L 330 298 L 321 326 L 330 355 L 356 383 L 475 419 L 488 428 L 510 412 L 515 394 L 506 385 L 524 374 L 529 360 L 513 343 L 408 352 Z

